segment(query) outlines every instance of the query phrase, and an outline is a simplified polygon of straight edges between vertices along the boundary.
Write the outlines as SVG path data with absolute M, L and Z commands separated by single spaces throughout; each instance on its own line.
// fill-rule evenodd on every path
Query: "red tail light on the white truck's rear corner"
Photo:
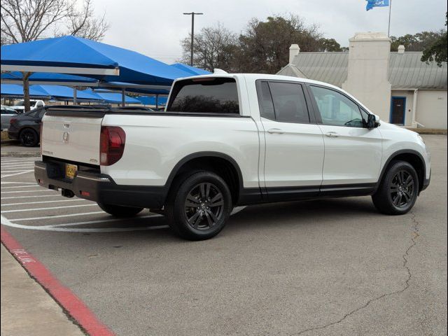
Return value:
M 116 163 L 125 151 L 126 133 L 123 128 L 102 126 L 99 140 L 99 162 L 103 166 Z

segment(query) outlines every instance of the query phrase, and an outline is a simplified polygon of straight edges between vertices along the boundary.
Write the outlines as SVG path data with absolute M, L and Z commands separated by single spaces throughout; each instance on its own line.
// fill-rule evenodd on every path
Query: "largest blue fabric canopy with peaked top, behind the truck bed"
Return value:
M 146 90 L 146 93 L 151 93 L 150 90 L 167 92 L 174 79 L 192 75 L 139 52 L 76 36 L 2 45 L 0 65 L 2 72 L 28 71 L 85 76 L 114 88 L 120 86 L 110 83 L 122 83 L 123 100 L 123 83 L 138 84 L 139 90 Z M 3 78 L 2 82 L 4 83 Z

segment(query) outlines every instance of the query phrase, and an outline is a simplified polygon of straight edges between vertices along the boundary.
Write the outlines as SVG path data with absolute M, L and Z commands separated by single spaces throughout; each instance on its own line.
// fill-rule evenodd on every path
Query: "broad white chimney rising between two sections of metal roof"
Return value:
M 349 40 L 349 69 L 342 88 L 381 120 L 389 121 L 391 83 L 388 64 L 391 39 L 384 33 L 356 33 Z

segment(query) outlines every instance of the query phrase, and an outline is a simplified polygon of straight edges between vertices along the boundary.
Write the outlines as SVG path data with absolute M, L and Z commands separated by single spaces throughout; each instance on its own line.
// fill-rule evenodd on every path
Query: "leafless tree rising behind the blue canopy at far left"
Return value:
M 82 10 L 76 9 L 76 0 L 1 0 L 0 3 L 2 45 L 54 36 L 61 27 L 65 27 L 64 35 L 101 40 L 109 28 L 104 16 L 95 17 L 91 0 L 84 0 Z M 22 73 L 25 111 L 29 111 L 29 76 L 29 72 Z

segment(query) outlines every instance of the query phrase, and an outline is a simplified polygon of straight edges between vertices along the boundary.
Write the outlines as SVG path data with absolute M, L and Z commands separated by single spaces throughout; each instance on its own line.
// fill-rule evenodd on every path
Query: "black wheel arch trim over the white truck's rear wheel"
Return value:
M 209 170 L 215 172 L 224 179 L 232 193 L 232 202 L 236 204 L 241 195 L 243 188 L 243 176 L 238 163 L 230 157 L 230 155 L 214 152 L 203 151 L 187 155 L 180 160 L 169 174 L 165 190 L 168 193 L 171 190 L 174 179 L 182 174 L 197 169 Z

